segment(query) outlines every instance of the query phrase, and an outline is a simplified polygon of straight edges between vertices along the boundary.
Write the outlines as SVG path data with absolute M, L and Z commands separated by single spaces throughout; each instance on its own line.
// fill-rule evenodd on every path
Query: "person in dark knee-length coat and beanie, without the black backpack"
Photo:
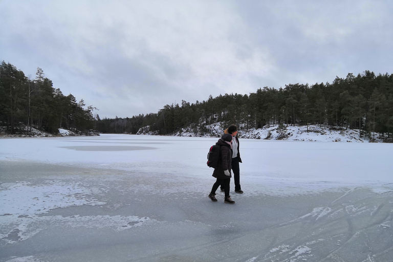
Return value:
M 219 165 L 214 168 L 212 176 L 216 178 L 211 192 L 209 194 L 209 199 L 213 202 L 217 202 L 215 198 L 215 191 L 221 184 L 224 185 L 225 199 L 224 203 L 234 204 L 235 202 L 231 199 L 229 195 L 229 187 L 231 182 L 231 162 L 232 162 L 232 135 L 225 134 L 222 136 L 216 145 L 220 145 L 220 161 Z

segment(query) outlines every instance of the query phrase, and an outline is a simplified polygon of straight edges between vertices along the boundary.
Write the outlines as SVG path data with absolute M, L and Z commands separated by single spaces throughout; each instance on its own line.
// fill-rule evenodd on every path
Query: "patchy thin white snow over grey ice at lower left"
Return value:
M 82 182 L 68 183 L 59 180 L 45 181 L 43 185 L 28 182 L 3 183 L 0 186 L 0 238 L 7 243 L 16 243 L 45 228 L 59 226 L 123 231 L 150 221 L 148 217 L 133 215 L 42 216 L 56 208 L 104 205 L 105 202 L 92 197 L 88 186 Z

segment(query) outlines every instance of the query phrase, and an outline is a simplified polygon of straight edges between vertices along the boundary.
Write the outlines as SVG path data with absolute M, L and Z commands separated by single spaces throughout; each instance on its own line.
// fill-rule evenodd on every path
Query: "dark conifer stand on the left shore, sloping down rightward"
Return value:
M 7 126 L 7 133 L 29 134 L 32 127 L 51 134 L 58 128 L 87 133 L 94 129 L 97 108 L 84 106 L 83 99 L 77 102 L 73 95 L 64 96 L 53 88 L 40 68 L 30 79 L 10 63 L 0 65 L 0 126 Z

